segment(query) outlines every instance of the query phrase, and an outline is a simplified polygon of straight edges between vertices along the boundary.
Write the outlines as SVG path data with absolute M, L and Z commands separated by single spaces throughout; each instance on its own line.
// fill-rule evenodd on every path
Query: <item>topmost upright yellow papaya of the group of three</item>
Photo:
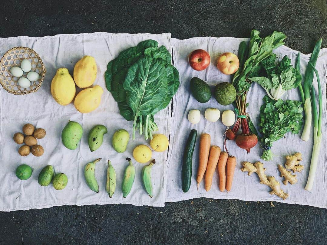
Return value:
M 74 81 L 79 88 L 90 87 L 96 79 L 96 63 L 92 56 L 84 56 L 74 67 Z

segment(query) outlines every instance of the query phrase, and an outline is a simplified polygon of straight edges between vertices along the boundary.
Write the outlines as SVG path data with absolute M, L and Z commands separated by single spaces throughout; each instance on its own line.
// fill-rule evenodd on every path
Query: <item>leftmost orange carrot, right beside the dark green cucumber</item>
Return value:
M 207 168 L 210 151 L 210 134 L 201 134 L 199 143 L 199 166 L 197 182 L 198 186 L 203 179 L 204 172 Z

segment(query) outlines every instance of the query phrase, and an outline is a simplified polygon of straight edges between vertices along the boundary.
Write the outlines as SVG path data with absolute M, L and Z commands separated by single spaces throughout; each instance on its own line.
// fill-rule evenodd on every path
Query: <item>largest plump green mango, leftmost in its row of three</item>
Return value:
M 81 140 L 83 135 L 82 126 L 73 121 L 69 121 L 63 128 L 61 133 L 61 140 L 64 146 L 69 150 L 75 150 L 78 142 Z

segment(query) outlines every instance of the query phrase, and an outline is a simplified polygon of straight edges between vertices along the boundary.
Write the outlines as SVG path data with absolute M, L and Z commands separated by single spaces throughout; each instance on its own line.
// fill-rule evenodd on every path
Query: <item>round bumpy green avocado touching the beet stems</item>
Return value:
M 231 83 L 218 83 L 215 87 L 215 98 L 220 105 L 230 105 L 236 99 L 236 90 Z

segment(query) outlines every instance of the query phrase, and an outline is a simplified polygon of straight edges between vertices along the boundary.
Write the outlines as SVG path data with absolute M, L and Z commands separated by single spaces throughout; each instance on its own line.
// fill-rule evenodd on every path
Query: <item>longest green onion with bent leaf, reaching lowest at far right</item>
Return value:
M 319 79 L 319 74 L 314 65 L 309 61 L 309 66 L 313 69 L 317 77 L 318 83 L 318 101 L 319 101 L 319 113 L 317 112 L 316 106 L 316 92 L 314 87 L 311 88 L 311 101 L 312 101 L 312 109 L 313 109 L 313 122 L 314 122 L 314 134 L 313 134 L 313 149 L 311 155 L 311 163 L 310 170 L 307 183 L 305 185 L 305 189 L 310 191 L 313 186 L 313 182 L 315 179 L 315 174 L 318 165 L 318 157 L 321 148 L 321 120 L 322 120 L 322 92 L 321 92 L 321 84 Z

